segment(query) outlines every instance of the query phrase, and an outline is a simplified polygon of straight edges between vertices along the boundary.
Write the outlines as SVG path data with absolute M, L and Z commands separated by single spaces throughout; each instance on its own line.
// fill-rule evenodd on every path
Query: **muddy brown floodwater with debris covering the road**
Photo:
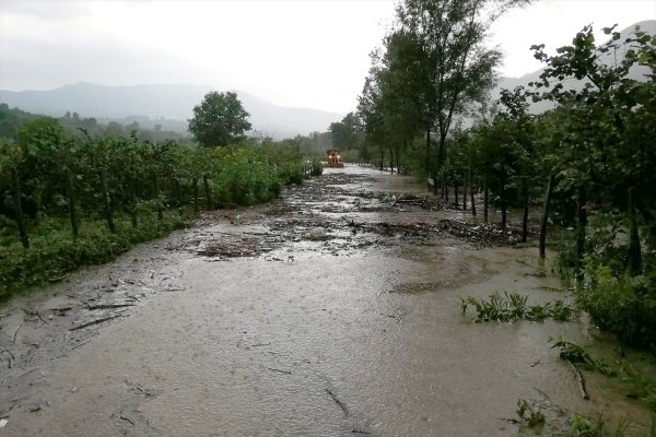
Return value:
M 497 290 L 567 295 L 516 234 L 430 202 L 326 169 L 9 303 L 0 436 L 516 436 L 519 399 L 554 424 L 620 408 L 583 400 L 548 343 L 585 323 L 461 314 Z

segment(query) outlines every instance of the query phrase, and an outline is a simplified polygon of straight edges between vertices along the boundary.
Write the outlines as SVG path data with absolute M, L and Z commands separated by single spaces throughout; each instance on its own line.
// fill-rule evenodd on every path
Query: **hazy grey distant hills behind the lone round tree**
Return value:
M 166 129 L 186 131 L 186 120 L 191 117 L 209 86 L 198 85 L 134 85 L 104 86 L 80 82 L 47 91 L 0 90 L 0 102 L 31 113 L 61 117 L 67 111 L 81 117 L 125 122 L 137 120 L 140 125 L 159 123 Z M 216 90 L 224 91 L 224 90 Z M 254 130 L 276 139 L 307 135 L 326 131 L 331 122 L 344 114 L 317 109 L 288 108 L 259 99 L 248 93 L 236 92 L 250 114 Z

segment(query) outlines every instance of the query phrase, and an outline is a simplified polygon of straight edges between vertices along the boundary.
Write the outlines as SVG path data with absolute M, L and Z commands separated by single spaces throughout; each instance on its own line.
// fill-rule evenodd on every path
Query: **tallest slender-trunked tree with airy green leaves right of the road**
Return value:
M 495 82 L 501 54 L 484 46 L 490 25 L 511 8 L 530 0 L 405 0 L 397 8 L 397 29 L 412 34 L 425 54 L 427 74 L 422 113 L 426 152 L 435 130 L 436 161 L 433 176 L 446 154 L 454 117 L 479 101 Z M 436 190 L 436 185 L 435 185 Z

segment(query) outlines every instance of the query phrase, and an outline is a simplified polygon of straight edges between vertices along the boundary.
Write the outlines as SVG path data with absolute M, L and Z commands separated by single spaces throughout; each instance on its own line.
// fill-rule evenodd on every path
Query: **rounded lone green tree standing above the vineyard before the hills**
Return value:
M 251 128 L 248 117 L 236 93 L 212 91 L 194 107 L 194 117 L 187 121 L 196 141 L 213 147 L 242 140 L 244 132 Z

